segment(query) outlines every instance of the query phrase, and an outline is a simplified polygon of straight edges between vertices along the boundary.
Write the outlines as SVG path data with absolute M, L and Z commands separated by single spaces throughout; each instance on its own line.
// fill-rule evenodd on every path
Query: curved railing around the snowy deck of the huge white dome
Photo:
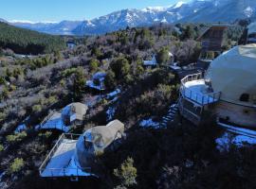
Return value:
M 201 73 L 189 75 L 181 79 L 180 93 L 183 97 L 189 98 L 193 102 L 204 106 L 219 101 L 221 92 L 208 94 L 197 93 L 186 87 L 186 83 L 193 80 L 204 80 Z

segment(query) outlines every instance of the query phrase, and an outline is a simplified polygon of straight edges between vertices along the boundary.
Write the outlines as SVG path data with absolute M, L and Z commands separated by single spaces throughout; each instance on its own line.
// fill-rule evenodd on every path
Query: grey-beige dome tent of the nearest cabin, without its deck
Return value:
M 124 133 L 124 125 L 114 120 L 106 126 L 87 129 L 76 144 L 75 161 L 81 169 L 92 167 L 97 156 L 117 145 Z

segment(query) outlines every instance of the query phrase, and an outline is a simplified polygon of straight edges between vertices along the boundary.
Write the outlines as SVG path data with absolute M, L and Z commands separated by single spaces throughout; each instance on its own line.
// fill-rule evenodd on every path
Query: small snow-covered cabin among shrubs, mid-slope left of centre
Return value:
M 93 75 L 92 80 L 87 80 L 86 81 L 86 86 L 97 90 L 97 91 L 104 91 L 105 90 L 105 84 L 104 80 L 106 77 L 105 72 L 97 72 Z

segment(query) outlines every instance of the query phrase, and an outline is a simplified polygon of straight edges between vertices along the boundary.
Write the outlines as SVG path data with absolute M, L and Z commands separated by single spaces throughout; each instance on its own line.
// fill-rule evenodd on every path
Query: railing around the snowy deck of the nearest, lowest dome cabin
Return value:
M 77 168 L 46 168 L 47 164 L 50 162 L 51 158 L 54 156 L 55 152 L 57 151 L 58 147 L 61 146 L 61 144 L 64 142 L 65 139 L 67 140 L 78 140 L 78 138 L 81 136 L 81 134 L 73 134 L 73 133 L 63 133 L 56 144 L 52 147 L 50 152 L 47 154 L 46 159 L 39 167 L 39 173 L 41 176 L 43 176 L 43 173 L 45 171 L 50 173 L 51 177 L 73 177 L 73 176 L 84 176 L 84 174 L 81 173 L 80 170 L 86 171 L 87 173 L 91 173 L 91 167 L 77 167 Z M 68 172 L 76 173 L 74 174 L 67 174 Z M 58 172 L 58 174 L 56 174 Z M 59 173 L 63 173 L 63 175 L 60 175 Z

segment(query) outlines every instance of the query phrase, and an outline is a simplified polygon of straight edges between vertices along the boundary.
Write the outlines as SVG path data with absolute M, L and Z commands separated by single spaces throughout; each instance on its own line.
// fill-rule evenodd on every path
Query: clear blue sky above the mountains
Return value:
M 178 0 L 0 0 L 0 18 L 5 20 L 84 20 L 119 9 L 169 6 Z M 188 0 L 183 0 L 188 1 Z

